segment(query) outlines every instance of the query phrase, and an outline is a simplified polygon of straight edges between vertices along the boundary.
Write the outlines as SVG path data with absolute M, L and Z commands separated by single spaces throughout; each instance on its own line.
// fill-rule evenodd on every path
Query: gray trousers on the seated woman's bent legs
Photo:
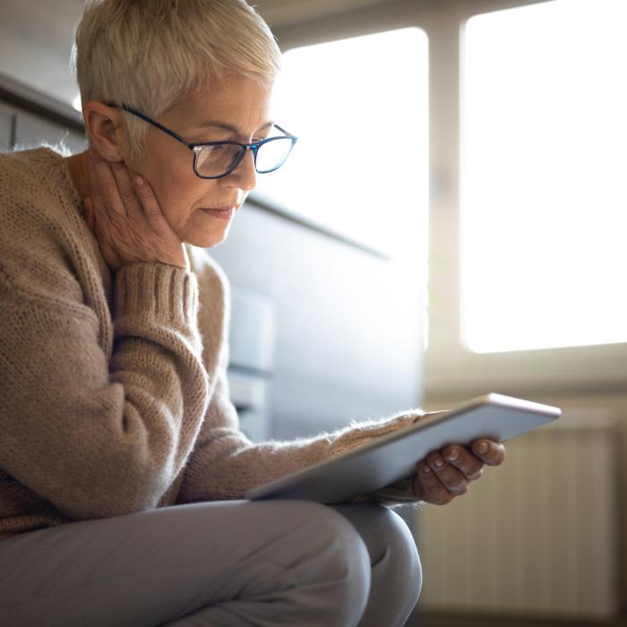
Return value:
M 421 575 L 374 503 L 190 503 L 0 540 L 0 624 L 395 627 Z

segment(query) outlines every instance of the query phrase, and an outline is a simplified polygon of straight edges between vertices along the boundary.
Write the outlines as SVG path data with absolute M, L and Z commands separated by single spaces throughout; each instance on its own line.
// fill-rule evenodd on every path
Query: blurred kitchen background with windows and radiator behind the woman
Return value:
M 255 5 L 300 139 L 208 250 L 242 428 L 489 391 L 562 408 L 467 495 L 399 510 L 425 571 L 408 624 L 625 624 L 627 2 Z M 1 150 L 84 150 L 82 7 L 0 0 Z

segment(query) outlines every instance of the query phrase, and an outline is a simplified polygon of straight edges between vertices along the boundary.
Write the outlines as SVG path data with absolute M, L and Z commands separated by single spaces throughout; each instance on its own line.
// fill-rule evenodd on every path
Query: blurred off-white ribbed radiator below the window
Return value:
M 417 513 L 419 611 L 611 618 L 619 609 L 617 431 L 605 410 L 507 442 L 468 494 Z

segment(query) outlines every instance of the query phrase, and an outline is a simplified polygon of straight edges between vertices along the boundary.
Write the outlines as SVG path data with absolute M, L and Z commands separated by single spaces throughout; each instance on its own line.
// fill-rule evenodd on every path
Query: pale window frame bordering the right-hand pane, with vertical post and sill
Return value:
M 627 344 L 473 353 L 460 325 L 461 112 L 464 30 L 476 15 L 551 0 L 481 0 L 451 3 L 437 13 L 430 41 L 457 40 L 456 53 L 432 49 L 432 193 L 429 258 L 429 347 L 426 396 L 475 395 L 485 391 L 524 395 L 542 392 L 620 391 L 627 382 Z M 442 111 L 445 102 L 448 110 Z M 438 188 L 441 188 L 439 190 Z M 548 305 L 538 305 L 548 306 Z M 437 321 L 437 322 L 434 322 Z

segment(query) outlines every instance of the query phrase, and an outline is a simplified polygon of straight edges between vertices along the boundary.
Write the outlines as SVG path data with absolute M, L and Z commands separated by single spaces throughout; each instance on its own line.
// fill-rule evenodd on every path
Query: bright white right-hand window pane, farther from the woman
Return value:
M 625 0 L 468 21 L 461 331 L 475 352 L 627 341 Z

